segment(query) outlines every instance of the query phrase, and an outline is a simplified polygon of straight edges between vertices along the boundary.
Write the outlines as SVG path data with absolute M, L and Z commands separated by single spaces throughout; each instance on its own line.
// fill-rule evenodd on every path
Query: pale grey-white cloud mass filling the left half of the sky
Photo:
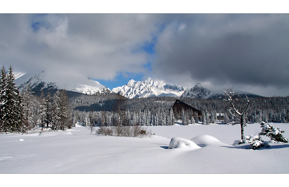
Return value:
M 2 14 L 1 62 L 21 71 L 67 71 L 95 79 L 144 72 L 139 50 L 156 29 L 147 14 Z

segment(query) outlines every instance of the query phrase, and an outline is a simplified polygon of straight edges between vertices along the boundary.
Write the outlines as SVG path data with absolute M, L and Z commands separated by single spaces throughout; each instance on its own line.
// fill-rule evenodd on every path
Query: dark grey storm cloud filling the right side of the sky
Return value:
M 166 26 L 155 72 L 214 84 L 289 86 L 288 14 L 197 14 Z

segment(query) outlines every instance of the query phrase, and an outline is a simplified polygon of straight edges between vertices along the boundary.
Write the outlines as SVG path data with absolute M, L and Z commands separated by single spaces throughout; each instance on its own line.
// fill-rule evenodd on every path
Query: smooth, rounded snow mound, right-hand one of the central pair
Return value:
M 205 146 L 223 146 L 227 145 L 218 140 L 217 138 L 210 136 L 210 135 L 200 135 L 196 136 L 191 139 L 192 142 L 197 144 L 200 147 L 205 147 Z

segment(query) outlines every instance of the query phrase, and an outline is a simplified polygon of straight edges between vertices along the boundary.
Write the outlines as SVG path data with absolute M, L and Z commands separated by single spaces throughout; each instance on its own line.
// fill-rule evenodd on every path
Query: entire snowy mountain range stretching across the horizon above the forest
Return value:
M 221 99 L 224 95 L 222 89 L 210 90 L 204 87 L 202 83 L 197 83 L 194 87 L 189 88 L 175 84 L 167 84 L 163 80 L 152 79 L 151 77 L 145 81 L 134 81 L 131 79 L 126 85 L 110 90 L 99 82 L 81 75 L 57 75 L 53 72 L 45 71 L 36 75 L 19 72 L 16 72 L 14 75 L 16 77 L 15 83 L 20 91 L 30 85 L 30 87 L 34 91 L 38 91 L 38 93 L 42 89 L 65 89 L 67 91 L 75 91 L 89 95 L 103 92 L 114 92 L 129 99 L 164 96 L 176 98 Z M 237 90 L 237 93 L 238 96 L 241 97 L 262 97 L 241 90 Z

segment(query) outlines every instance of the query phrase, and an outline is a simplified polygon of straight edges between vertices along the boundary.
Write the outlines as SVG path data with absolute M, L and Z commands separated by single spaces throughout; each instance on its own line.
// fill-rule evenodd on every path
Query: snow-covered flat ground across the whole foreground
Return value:
M 289 138 L 288 123 L 271 125 Z M 40 134 L 0 134 L 0 173 L 289 173 L 289 144 L 270 144 L 261 150 L 246 149 L 248 144 L 232 146 L 240 140 L 239 125 L 148 128 L 156 133 L 150 139 L 99 136 L 82 126 Z M 259 124 L 244 127 L 245 136 L 260 131 Z M 200 135 L 222 143 L 208 138 L 198 149 L 168 149 L 173 137 L 194 138 L 196 143 Z

